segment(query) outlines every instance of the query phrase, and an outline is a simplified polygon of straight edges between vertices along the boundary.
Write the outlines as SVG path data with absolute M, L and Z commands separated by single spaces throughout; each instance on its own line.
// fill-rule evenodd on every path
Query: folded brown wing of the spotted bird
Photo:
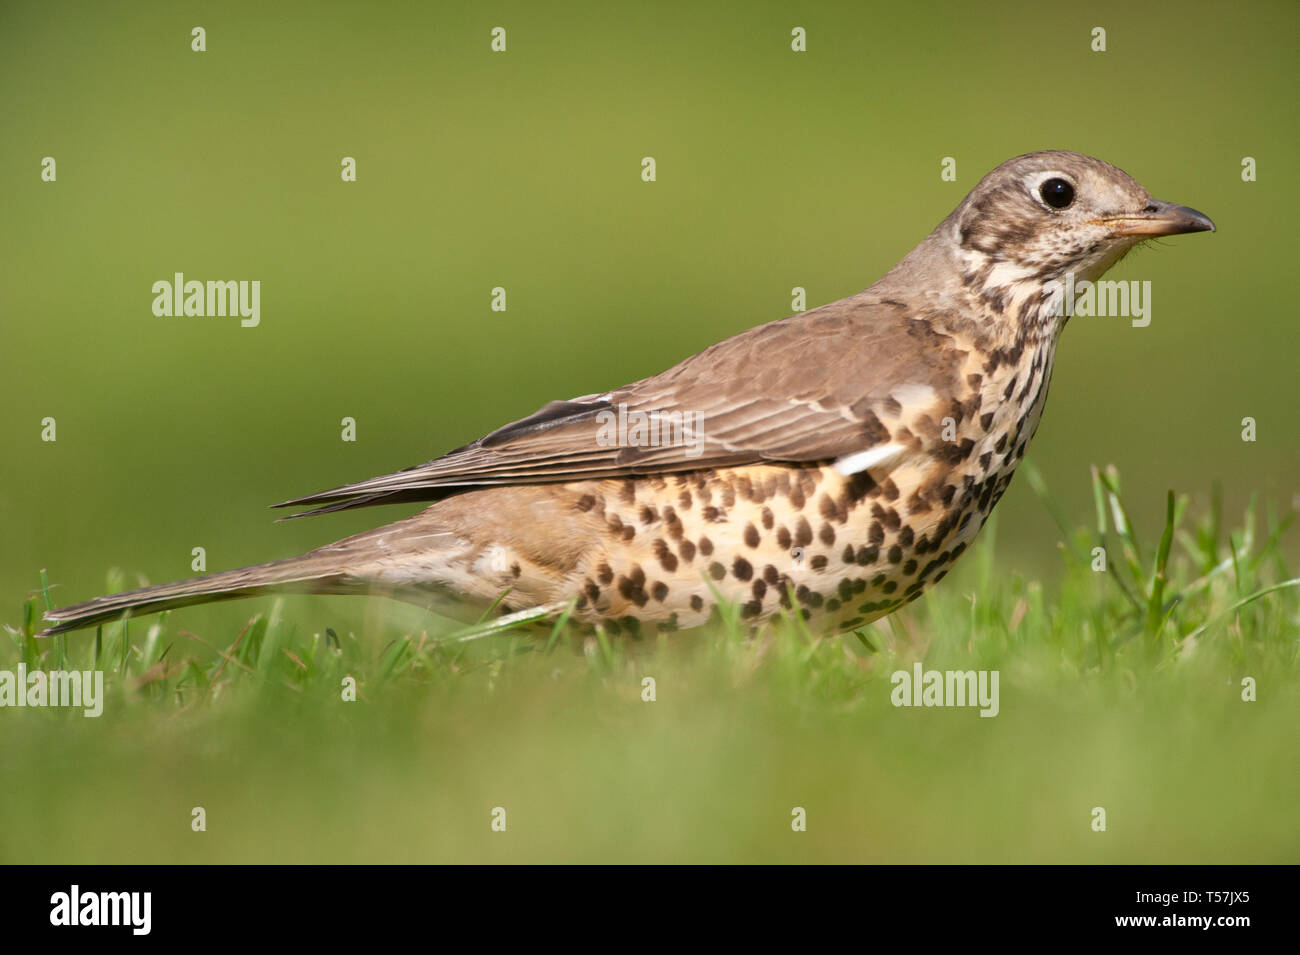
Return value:
M 493 485 L 861 456 L 888 446 L 880 418 L 887 404 L 897 413 L 893 392 L 942 401 L 956 391 L 958 359 L 923 317 L 862 294 L 608 394 L 551 401 L 426 464 L 274 507 L 312 507 L 300 517 Z

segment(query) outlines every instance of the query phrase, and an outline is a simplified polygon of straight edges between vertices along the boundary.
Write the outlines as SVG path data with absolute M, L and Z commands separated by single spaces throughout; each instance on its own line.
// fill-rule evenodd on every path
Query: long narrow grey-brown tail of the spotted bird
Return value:
M 368 590 L 361 581 L 344 573 L 344 561 L 343 554 L 335 555 L 330 554 L 329 548 L 321 548 L 269 564 L 254 564 L 174 583 L 96 596 L 84 603 L 46 611 L 46 620 L 52 625 L 39 635 L 52 637 L 83 626 L 95 626 L 116 620 L 127 611 L 157 613 L 173 607 L 268 592 L 356 594 Z

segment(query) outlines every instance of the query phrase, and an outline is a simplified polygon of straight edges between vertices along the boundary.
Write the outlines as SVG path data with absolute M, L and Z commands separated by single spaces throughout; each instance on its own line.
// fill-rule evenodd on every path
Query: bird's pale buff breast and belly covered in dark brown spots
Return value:
M 720 600 L 744 622 L 784 611 L 850 630 L 970 547 L 1037 426 L 1050 355 L 1026 374 L 985 381 L 982 413 L 948 440 L 918 437 L 941 421 L 909 421 L 918 447 L 881 473 L 753 465 L 459 495 L 417 520 L 472 530 L 415 574 L 480 605 L 507 590 L 506 609 L 575 600 L 575 621 L 620 634 L 698 626 Z

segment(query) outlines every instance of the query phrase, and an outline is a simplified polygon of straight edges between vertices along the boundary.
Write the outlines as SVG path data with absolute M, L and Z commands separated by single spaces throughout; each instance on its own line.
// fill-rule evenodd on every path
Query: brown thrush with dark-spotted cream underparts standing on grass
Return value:
M 425 464 L 272 505 L 426 504 L 411 517 L 49 609 L 42 635 L 295 591 L 462 620 L 564 608 L 610 635 L 727 609 L 852 631 L 941 581 L 1006 491 L 1043 416 L 1063 283 L 1095 282 L 1140 242 L 1214 230 L 1109 162 L 1018 156 L 864 291 Z

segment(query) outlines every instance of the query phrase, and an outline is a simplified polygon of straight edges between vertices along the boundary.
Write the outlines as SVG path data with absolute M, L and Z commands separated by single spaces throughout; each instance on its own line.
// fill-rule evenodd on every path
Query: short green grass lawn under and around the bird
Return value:
M 0 669 L 100 668 L 107 700 L 0 712 L 0 861 L 1295 861 L 1295 513 L 1170 494 L 1141 541 L 1114 469 L 1089 528 L 1027 479 L 1058 582 L 1008 567 L 991 524 L 840 638 L 734 613 L 642 643 L 563 613 L 550 638 L 303 633 L 277 600 L 233 638 L 177 611 L 36 641 L 34 594 Z M 997 670 L 997 717 L 892 706 L 915 660 Z

